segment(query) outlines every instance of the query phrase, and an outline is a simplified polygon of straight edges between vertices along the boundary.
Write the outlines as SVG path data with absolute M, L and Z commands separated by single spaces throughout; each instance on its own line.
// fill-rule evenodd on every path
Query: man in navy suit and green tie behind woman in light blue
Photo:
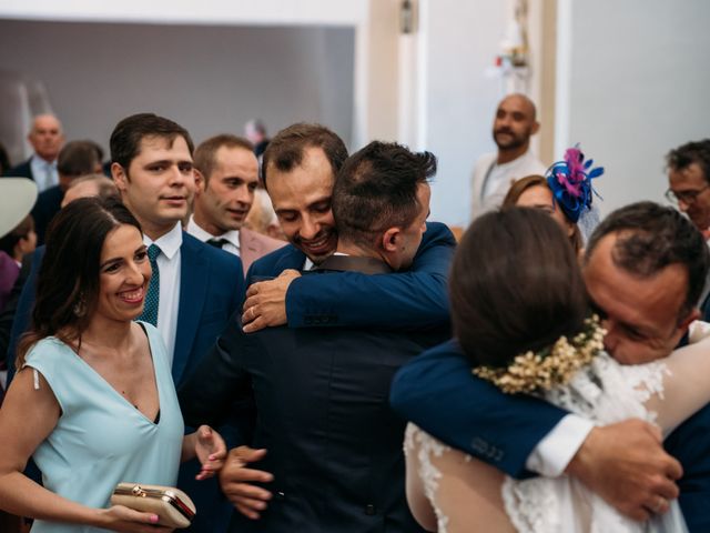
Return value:
M 241 304 L 242 263 L 236 255 L 182 231 L 195 191 L 193 143 L 184 128 L 152 113 L 134 114 L 116 124 L 110 144 L 113 180 L 143 228 L 153 279 L 159 279 L 154 314 L 149 290 L 142 318 L 155 320 L 172 354 L 178 386 Z M 231 509 L 219 501 L 216 483 L 194 482 L 197 465 L 190 464 L 193 470 L 182 467 L 179 484 L 202 511 L 191 531 L 219 531 L 226 525 Z

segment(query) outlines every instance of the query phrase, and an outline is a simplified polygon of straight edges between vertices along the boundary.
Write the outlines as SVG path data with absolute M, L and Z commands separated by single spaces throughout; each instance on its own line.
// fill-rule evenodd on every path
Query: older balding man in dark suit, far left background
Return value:
M 6 171 L 4 175 L 34 180 L 40 192 L 59 184 L 57 157 L 64 143 L 62 124 L 53 114 L 38 114 L 27 140 L 34 153 L 27 161 Z

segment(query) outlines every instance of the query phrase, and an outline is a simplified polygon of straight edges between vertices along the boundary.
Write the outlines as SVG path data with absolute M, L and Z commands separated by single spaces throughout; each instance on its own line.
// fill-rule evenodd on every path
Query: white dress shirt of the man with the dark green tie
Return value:
M 146 247 L 155 243 L 160 248 L 158 255 L 158 270 L 160 271 L 160 295 L 158 302 L 158 331 L 168 346 L 168 358 L 173 364 L 175 351 L 175 334 L 178 333 L 178 312 L 180 310 L 180 247 L 182 245 L 182 228 L 178 222 L 175 227 L 152 241 L 143 235 Z

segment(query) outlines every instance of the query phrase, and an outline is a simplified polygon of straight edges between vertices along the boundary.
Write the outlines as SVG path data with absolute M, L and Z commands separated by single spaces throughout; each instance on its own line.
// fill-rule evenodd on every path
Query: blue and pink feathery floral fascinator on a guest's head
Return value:
M 545 173 L 555 201 L 575 223 L 582 212 L 591 208 L 592 193 L 597 194 L 591 187 L 591 180 L 604 174 L 604 168 L 591 169 L 592 164 L 594 160 L 585 161 L 579 144 L 575 144 L 574 148 L 567 149 L 564 161 L 554 163 Z

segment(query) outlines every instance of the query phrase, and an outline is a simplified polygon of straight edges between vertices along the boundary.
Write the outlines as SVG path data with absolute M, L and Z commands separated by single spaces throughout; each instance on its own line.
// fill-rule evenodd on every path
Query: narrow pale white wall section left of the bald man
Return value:
M 475 161 L 495 150 L 500 82 L 484 76 L 499 53 L 506 2 L 423 0 L 423 145 L 439 158 L 432 219 L 466 227 Z

